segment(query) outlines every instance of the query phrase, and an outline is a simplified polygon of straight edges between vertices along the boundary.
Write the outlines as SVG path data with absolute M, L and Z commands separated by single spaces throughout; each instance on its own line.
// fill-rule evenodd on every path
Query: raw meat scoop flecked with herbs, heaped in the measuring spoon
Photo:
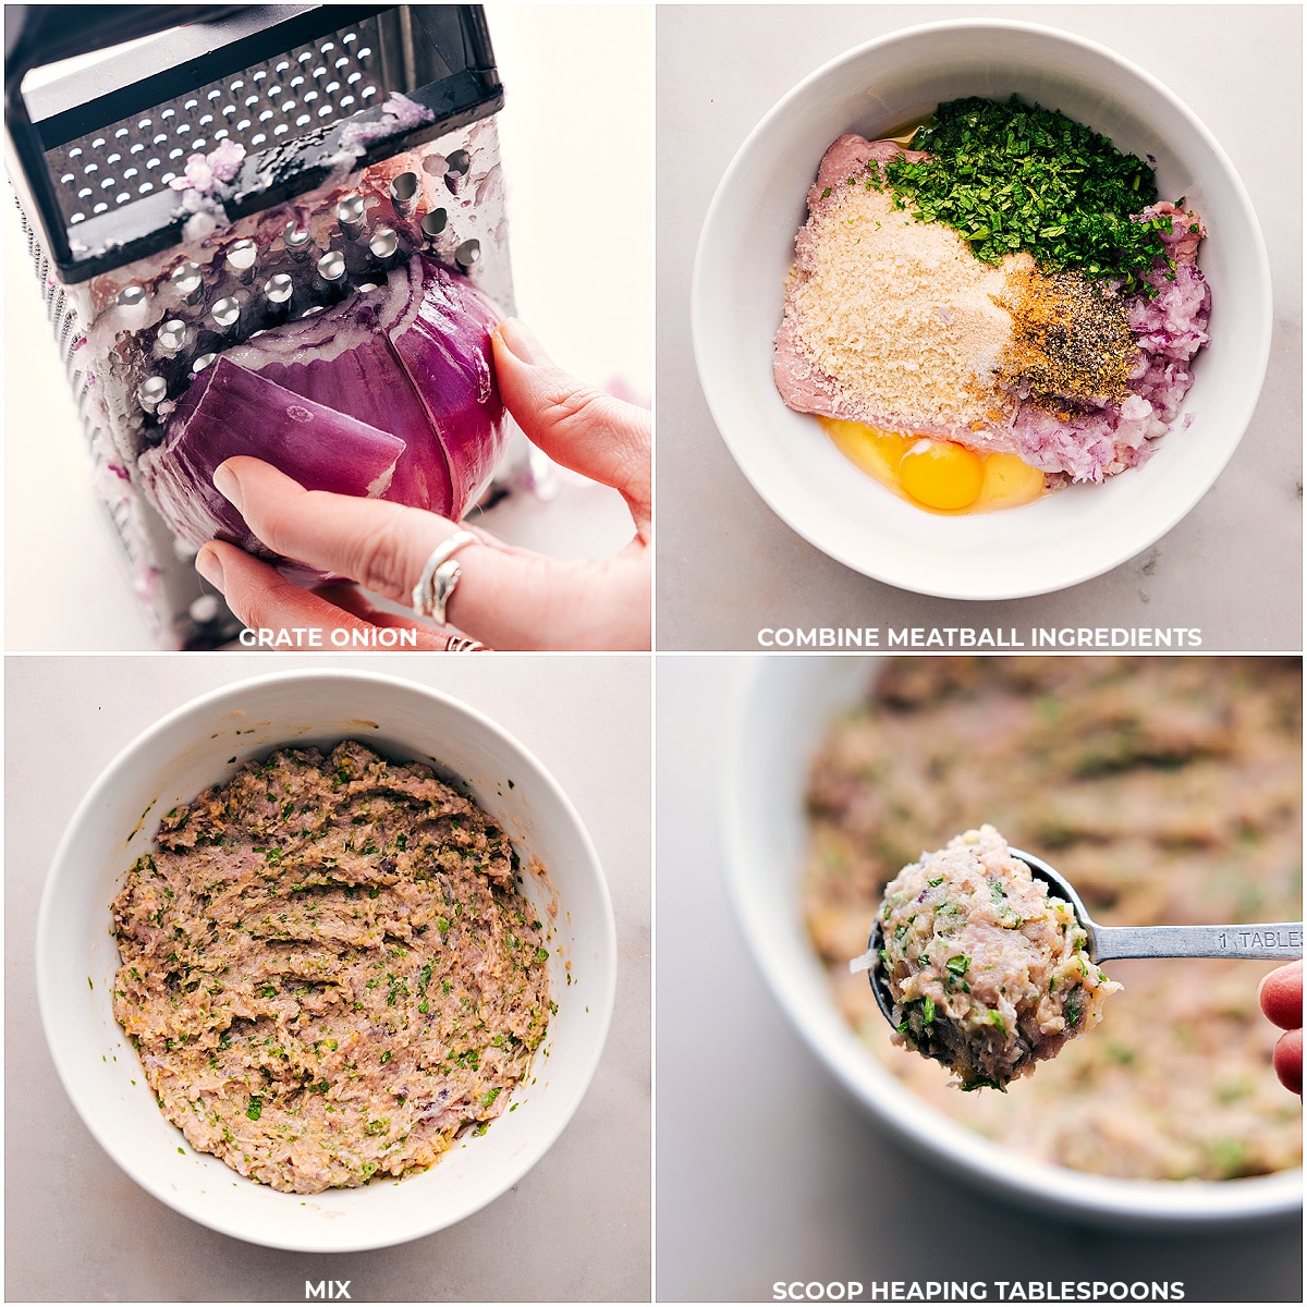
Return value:
M 894 1042 L 1004 1089 L 1103 1019 L 1121 987 L 1085 951 L 1069 903 L 982 826 L 910 863 L 885 889 L 882 965 Z

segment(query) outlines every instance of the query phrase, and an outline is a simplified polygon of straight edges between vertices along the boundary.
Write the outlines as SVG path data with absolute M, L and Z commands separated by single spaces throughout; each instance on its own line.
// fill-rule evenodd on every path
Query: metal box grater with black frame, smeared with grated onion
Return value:
M 5 24 L 9 174 L 97 490 L 158 643 L 225 644 L 239 622 L 136 459 L 223 349 L 417 251 L 512 311 L 484 12 L 37 5 Z

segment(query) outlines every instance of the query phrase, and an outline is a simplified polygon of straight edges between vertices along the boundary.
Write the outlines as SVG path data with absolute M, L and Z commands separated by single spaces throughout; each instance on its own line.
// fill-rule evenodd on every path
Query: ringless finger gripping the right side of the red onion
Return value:
M 652 505 L 648 410 L 554 367 L 516 318 L 499 323 L 490 340 L 499 393 L 527 438 L 555 463 L 618 490 L 640 538 L 648 540 Z

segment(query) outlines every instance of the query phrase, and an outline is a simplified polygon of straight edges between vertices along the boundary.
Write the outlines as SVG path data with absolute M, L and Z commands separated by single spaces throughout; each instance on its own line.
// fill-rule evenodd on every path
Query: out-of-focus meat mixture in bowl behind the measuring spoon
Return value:
M 899 869 L 987 821 L 1104 925 L 1297 920 L 1302 793 L 1299 659 L 890 659 L 813 761 L 808 931 L 876 1056 L 979 1133 L 1106 1175 L 1285 1170 L 1302 1117 L 1257 1006 L 1273 963 L 1114 962 L 1125 988 L 1090 1038 L 1006 1094 L 959 1094 L 894 1047 L 848 959 Z

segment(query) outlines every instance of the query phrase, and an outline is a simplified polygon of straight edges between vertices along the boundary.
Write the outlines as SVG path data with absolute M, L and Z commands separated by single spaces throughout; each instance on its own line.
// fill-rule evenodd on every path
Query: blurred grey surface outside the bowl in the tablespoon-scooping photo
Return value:
M 880 1281 L 1180 1280 L 1187 1302 L 1302 1302 L 1297 1219 L 1182 1238 L 1042 1218 L 923 1170 L 814 1060 L 720 867 L 727 706 L 759 656 L 659 659 L 659 1299 L 770 1302 L 776 1281 L 857 1281 L 870 1302 Z

